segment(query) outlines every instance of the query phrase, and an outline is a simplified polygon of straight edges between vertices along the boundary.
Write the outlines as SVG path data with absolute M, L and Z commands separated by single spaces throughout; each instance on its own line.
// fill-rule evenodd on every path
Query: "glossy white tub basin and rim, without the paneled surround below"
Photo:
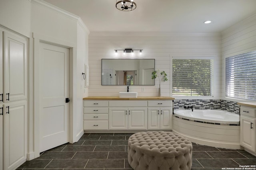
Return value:
M 201 109 L 178 109 L 174 110 L 174 115 L 185 119 L 209 122 L 209 123 L 220 123 L 220 124 L 239 124 L 239 115 L 224 110 L 201 110 Z

